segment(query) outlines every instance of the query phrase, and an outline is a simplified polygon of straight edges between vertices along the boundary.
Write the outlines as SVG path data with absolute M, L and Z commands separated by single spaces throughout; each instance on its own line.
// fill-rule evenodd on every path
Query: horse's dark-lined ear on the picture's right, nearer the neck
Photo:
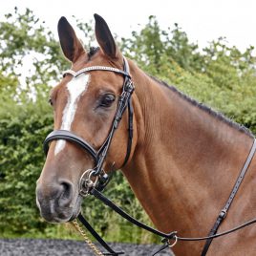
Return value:
M 94 16 L 96 19 L 96 40 L 99 46 L 107 56 L 117 58 L 120 53 L 106 21 L 98 14 Z

